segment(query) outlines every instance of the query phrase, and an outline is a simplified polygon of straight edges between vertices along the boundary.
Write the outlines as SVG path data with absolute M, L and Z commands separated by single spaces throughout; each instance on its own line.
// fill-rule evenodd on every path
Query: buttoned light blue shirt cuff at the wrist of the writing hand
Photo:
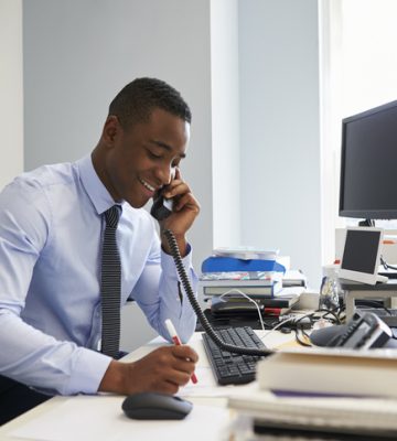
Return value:
M 75 374 L 72 375 L 67 390 L 63 390 L 63 395 L 97 394 L 111 359 L 107 355 L 81 347 Z

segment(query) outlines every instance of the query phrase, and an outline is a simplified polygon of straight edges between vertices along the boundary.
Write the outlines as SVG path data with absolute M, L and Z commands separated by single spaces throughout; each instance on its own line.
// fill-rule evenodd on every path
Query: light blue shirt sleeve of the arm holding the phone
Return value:
M 159 249 L 160 244 L 154 248 Z M 194 297 L 198 278 L 192 265 L 192 249 L 182 259 Z M 153 252 L 155 256 L 157 252 Z M 164 325 L 170 319 L 183 343 L 186 343 L 195 331 L 196 315 L 182 286 L 172 256 L 163 250 L 158 259 L 149 260 L 132 293 L 133 299 L 144 312 L 151 326 L 165 340 L 171 337 Z

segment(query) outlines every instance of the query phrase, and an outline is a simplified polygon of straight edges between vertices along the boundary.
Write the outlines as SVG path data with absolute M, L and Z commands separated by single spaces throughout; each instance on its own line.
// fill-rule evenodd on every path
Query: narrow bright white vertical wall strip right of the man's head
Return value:
M 211 2 L 214 247 L 240 244 L 238 0 Z

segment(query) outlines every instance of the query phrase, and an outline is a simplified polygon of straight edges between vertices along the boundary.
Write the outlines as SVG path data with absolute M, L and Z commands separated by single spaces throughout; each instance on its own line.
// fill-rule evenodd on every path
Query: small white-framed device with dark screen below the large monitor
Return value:
M 339 277 L 368 284 L 387 282 L 378 275 L 382 240 L 382 228 L 347 227 Z

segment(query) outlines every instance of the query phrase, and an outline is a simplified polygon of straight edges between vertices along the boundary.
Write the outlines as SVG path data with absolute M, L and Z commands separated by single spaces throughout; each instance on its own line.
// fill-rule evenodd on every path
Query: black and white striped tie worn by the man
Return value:
M 120 212 L 114 205 L 105 212 L 106 228 L 101 260 L 101 352 L 118 357 L 120 346 L 121 263 L 117 248 L 116 230 Z

